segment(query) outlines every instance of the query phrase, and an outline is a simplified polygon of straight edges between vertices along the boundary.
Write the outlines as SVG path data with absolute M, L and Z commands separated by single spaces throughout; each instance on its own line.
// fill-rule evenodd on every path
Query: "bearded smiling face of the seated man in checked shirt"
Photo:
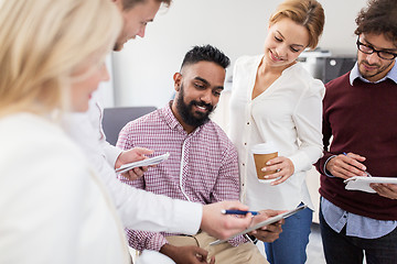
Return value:
M 210 62 L 184 66 L 174 75 L 175 100 L 172 111 L 187 131 L 208 120 L 224 89 L 225 69 Z

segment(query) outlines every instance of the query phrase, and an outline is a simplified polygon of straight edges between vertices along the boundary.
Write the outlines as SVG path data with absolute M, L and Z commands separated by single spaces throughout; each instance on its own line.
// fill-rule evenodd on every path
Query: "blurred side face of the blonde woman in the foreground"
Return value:
M 72 111 L 85 112 L 88 101 L 100 81 L 109 80 L 105 61 L 89 59 L 81 65 L 72 76 L 71 100 Z

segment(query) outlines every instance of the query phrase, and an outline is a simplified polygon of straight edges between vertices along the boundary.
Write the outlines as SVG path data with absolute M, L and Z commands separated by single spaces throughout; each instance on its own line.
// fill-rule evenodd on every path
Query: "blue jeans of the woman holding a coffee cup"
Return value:
M 307 261 L 305 248 L 312 218 L 312 210 L 305 208 L 286 219 L 280 238 L 272 243 L 265 243 L 270 264 L 303 264 Z

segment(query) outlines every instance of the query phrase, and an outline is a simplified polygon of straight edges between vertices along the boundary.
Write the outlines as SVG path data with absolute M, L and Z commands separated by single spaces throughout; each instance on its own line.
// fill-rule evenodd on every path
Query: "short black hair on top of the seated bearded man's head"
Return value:
M 230 59 L 218 48 L 204 45 L 204 46 L 194 46 L 190 50 L 185 57 L 183 58 L 181 69 L 185 65 L 196 64 L 200 62 L 211 62 L 219 65 L 226 69 L 230 65 Z

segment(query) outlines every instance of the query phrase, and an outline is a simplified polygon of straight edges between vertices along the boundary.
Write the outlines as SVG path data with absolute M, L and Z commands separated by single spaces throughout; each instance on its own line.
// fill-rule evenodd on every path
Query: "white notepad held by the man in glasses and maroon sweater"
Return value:
M 397 178 L 354 176 L 345 179 L 344 183 L 346 184 L 345 189 L 347 190 L 361 190 L 375 194 L 376 191 L 371 188 L 369 184 L 397 184 Z

